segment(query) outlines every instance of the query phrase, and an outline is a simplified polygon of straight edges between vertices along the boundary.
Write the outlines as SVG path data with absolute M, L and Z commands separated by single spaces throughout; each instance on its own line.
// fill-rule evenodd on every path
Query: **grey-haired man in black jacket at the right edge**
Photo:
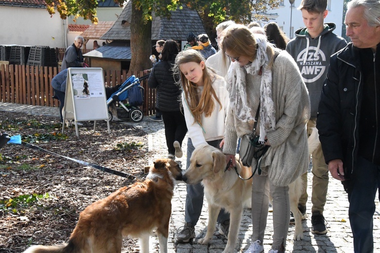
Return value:
M 331 176 L 350 202 L 355 252 L 373 252 L 375 195 L 380 186 L 380 1 L 352 0 L 351 43 L 334 54 L 322 90 L 317 129 Z

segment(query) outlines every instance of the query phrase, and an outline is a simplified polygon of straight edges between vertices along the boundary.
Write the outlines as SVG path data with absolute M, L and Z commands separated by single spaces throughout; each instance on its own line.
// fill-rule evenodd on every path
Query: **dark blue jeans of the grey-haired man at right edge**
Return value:
M 373 252 L 373 214 L 376 191 L 380 186 L 380 166 L 359 156 L 351 180 L 348 199 L 354 251 Z

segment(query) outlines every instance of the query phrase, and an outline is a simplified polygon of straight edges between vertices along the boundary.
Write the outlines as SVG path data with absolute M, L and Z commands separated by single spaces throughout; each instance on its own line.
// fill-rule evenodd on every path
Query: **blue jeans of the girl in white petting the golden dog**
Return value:
M 221 140 L 207 142 L 209 145 L 219 148 L 219 143 Z M 187 139 L 187 161 L 186 170 L 190 166 L 190 157 L 192 157 L 194 146 L 190 138 Z M 204 189 L 201 183 L 196 185 L 186 185 L 186 204 L 185 204 L 185 222 L 191 223 L 194 227 L 199 217 L 201 216 L 203 207 L 203 196 Z M 220 209 L 217 221 L 223 223 L 224 221 L 230 220 L 230 214 L 227 213 L 224 208 Z

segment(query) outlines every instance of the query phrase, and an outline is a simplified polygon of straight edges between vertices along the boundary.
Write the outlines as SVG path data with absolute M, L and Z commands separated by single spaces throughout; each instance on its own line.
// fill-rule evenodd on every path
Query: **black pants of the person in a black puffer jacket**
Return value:
M 182 141 L 187 133 L 185 116 L 181 111 L 161 111 L 165 125 L 166 146 L 169 154 L 175 154 L 174 141 L 182 146 Z

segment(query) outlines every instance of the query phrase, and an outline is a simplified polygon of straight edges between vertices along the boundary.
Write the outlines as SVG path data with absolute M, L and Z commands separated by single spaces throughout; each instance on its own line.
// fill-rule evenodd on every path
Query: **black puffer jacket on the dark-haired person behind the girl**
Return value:
M 148 86 L 157 89 L 156 108 L 161 111 L 180 110 L 180 87 L 176 84 L 173 72 L 174 61 L 161 61 L 153 66 L 148 79 Z

